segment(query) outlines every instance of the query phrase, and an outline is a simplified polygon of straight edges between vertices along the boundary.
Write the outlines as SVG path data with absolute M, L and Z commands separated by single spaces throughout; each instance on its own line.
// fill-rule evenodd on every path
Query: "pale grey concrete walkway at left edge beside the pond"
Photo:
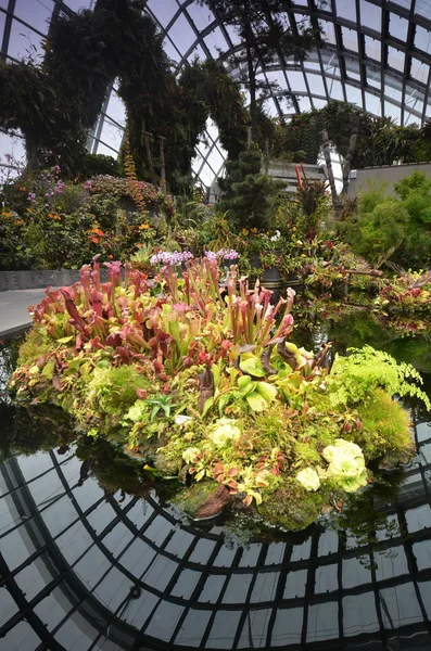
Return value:
M 0 339 L 21 334 L 31 323 L 27 311 L 29 305 L 37 305 L 45 296 L 45 290 L 16 290 L 0 292 Z

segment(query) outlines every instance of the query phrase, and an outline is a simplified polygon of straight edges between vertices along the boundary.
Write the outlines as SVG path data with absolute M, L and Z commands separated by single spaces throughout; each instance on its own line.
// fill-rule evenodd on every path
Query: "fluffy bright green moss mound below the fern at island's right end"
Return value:
M 373 390 L 359 406 L 358 413 L 363 430 L 355 435 L 355 442 L 363 448 L 366 459 L 381 457 L 388 451 L 411 450 L 409 416 L 384 391 Z

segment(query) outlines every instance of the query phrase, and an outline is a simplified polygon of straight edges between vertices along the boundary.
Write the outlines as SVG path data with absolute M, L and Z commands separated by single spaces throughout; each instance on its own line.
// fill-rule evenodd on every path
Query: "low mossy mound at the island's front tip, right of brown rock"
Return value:
M 269 524 L 289 531 L 301 531 L 319 515 L 325 497 L 305 490 L 295 480 L 287 480 L 284 488 L 276 490 L 258 507 L 262 518 Z

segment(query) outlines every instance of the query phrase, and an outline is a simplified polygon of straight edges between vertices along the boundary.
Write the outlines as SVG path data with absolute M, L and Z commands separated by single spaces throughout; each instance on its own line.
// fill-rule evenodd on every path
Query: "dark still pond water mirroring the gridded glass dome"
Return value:
M 358 312 L 296 339 L 370 343 L 430 371 L 429 335 L 402 334 Z M 73 445 L 54 445 L 52 426 L 12 424 L 11 410 L 0 412 L 1 651 L 431 649 L 429 414 L 413 409 L 418 455 L 389 477 L 397 487 L 369 490 L 348 522 L 245 537 L 191 523 L 154 490 L 107 488 Z

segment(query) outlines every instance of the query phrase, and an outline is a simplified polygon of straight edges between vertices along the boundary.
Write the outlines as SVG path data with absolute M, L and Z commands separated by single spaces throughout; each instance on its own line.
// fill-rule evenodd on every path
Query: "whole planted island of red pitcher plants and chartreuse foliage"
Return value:
M 234 267 L 221 285 L 208 257 L 181 275 L 168 259 L 151 284 L 129 265 L 105 266 L 105 283 L 94 259 L 79 283 L 47 290 L 10 388 L 18 403 L 62 407 L 77 432 L 118 445 L 162 481 L 188 476 L 178 503 L 193 514 L 245 505 L 305 528 L 372 482 L 369 461 L 411 455 L 408 413 L 393 396 L 429 407 L 419 374 L 369 346 L 329 371 L 329 345 L 315 357 L 289 341 L 292 290 L 271 305 Z

